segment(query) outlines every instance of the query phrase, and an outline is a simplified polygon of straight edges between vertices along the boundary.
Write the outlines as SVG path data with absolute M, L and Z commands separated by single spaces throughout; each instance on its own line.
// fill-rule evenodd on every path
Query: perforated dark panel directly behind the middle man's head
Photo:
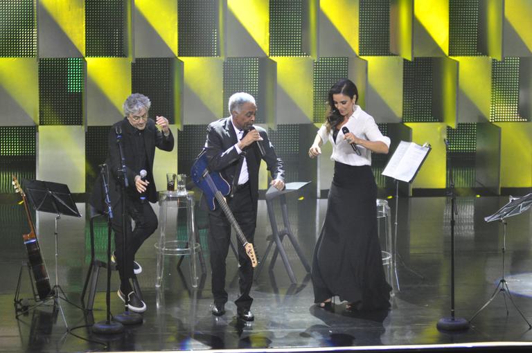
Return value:
M 247 92 L 254 96 L 258 105 L 258 58 L 228 57 L 224 62 L 224 102 L 236 92 Z M 264 123 L 261 107 L 257 107 L 256 123 Z M 224 107 L 224 115 L 229 111 Z

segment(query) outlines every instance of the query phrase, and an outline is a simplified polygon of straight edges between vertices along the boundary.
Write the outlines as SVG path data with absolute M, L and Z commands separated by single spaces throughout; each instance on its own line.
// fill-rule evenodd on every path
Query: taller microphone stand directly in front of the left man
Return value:
M 127 175 L 125 170 L 125 157 L 124 157 L 124 151 L 122 149 L 122 129 L 118 125 L 115 129 L 116 132 L 116 145 L 118 145 L 118 154 L 120 155 L 120 168 L 118 168 L 118 180 L 120 181 L 120 187 L 121 187 L 121 193 L 122 193 L 122 261 L 121 261 L 121 268 L 125 269 L 125 248 L 127 248 L 127 220 L 126 220 L 126 212 L 125 212 L 125 190 L 129 186 L 129 183 L 127 181 Z M 107 266 L 109 266 L 109 263 L 107 263 Z M 129 293 L 122 293 L 124 296 L 124 302 L 125 302 L 125 311 L 123 314 L 118 314 L 114 316 L 114 319 L 118 321 L 118 323 L 121 323 L 122 325 L 135 325 L 138 323 L 142 323 L 142 316 L 141 314 L 134 313 L 130 311 L 130 308 L 127 306 L 129 304 L 129 298 L 127 295 Z

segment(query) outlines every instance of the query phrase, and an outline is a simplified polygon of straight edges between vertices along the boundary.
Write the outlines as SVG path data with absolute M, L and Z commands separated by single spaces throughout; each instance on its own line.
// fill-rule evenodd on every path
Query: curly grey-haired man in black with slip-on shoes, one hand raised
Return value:
M 139 250 L 145 239 L 157 229 L 157 216 L 153 212 L 150 202 L 157 202 L 157 188 L 153 178 L 153 161 L 155 147 L 164 151 L 174 148 L 174 137 L 168 127 L 168 120 L 157 116 L 156 120 L 148 119 L 150 99 L 140 93 L 129 96 L 123 105 L 125 118 L 115 123 L 109 132 L 109 153 L 105 164 L 107 171 L 111 172 L 109 181 L 109 199 L 112 204 L 112 228 L 114 230 L 115 252 L 113 260 L 118 264 L 120 274 L 120 289 L 118 296 L 125 301 L 128 298 L 128 307 L 132 311 L 143 312 L 145 303 L 137 296 L 132 288 L 130 279 L 134 274 L 142 271 L 138 262 L 134 261 L 136 251 Z M 123 207 L 122 191 L 123 173 L 121 156 L 118 149 L 118 140 L 121 141 L 125 159 L 125 178 L 128 187 L 125 188 L 125 215 L 126 215 L 126 248 L 124 268 L 121 267 L 123 257 Z M 145 181 L 141 179 L 141 170 L 147 175 Z M 141 200 L 141 193 L 145 199 Z M 89 201 L 96 210 L 107 211 L 105 205 L 105 192 L 103 190 L 101 175 L 96 180 L 94 190 Z M 132 229 L 131 220 L 135 221 Z

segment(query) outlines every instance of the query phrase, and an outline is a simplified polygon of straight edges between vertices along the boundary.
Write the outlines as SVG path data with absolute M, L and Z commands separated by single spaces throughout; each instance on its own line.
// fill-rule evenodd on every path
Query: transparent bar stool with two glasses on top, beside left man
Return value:
M 159 242 L 155 244 L 157 249 L 157 278 L 155 287 L 161 287 L 164 273 L 164 257 L 190 256 L 190 284 L 197 287 L 196 257 L 201 247 L 197 242 L 195 219 L 194 219 L 194 193 L 177 194 L 177 191 L 159 192 Z M 183 215 L 182 212 L 186 212 Z M 187 239 L 179 239 L 179 226 L 183 226 L 186 219 Z

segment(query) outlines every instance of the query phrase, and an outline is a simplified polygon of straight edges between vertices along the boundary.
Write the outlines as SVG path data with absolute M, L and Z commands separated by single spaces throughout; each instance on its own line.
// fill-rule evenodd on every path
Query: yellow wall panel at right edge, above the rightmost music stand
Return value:
M 501 187 L 532 186 L 532 123 L 496 123 L 501 127 Z

